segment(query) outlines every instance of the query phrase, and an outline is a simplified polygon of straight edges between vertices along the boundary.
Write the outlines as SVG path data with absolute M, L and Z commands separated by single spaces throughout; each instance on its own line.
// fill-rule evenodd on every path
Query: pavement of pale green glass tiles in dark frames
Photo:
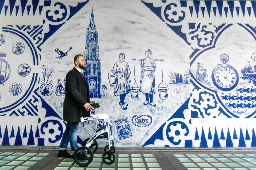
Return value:
M 119 151 L 117 148 L 115 162 L 110 165 L 103 163 L 104 151 L 98 149 L 88 167 L 80 167 L 73 159 L 58 159 L 58 150 L 6 148 L 0 146 L 0 170 L 256 170 L 255 148 L 218 151 L 203 148 Z

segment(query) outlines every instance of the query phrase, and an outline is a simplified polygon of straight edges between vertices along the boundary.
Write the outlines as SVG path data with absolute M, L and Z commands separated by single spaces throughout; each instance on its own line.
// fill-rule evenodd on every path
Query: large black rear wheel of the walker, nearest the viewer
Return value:
M 85 146 L 79 147 L 75 150 L 74 160 L 79 166 L 88 166 L 93 161 L 93 151 Z

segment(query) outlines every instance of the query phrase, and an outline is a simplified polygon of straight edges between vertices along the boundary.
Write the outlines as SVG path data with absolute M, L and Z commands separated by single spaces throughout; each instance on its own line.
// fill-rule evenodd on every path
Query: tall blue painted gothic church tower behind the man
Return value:
M 86 68 L 83 71 L 83 75 L 90 88 L 90 98 L 101 98 L 98 32 L 94 23 L 93 9 L 91 10 L 90 24 L 86 31 L 84 57 Z

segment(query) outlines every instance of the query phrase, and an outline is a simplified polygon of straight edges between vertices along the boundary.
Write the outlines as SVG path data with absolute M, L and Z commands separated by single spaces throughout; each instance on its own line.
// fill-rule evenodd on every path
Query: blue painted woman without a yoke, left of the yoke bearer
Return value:
M 115 86 L 115 96 L 120 97 L 119 105 L 123 110 L 127 110 L 128 103 L 126 103 L 125 97 L 126 94 L 130 92 L 130 74 L 131 70 L 129 68 L 129 65 L 125 60 L 125 54 L 120 53 L 119 54 L 119 61 L 116 62 L 113 66 L 113 74 L 117 74 L 118 80 L 117 80 L 117 86 Z

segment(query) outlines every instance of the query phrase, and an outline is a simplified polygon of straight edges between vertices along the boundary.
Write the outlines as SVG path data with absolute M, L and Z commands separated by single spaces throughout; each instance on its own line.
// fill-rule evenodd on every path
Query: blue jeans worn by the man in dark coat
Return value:
M 65 150 L 68 147 L 68 143 L 70 142 L 71 150 L 74 152 L 77 148 L 77 131 L 78 131 L 79 122 L 68 122 L 66 126 L 66 130 L 63 133 L 59 150 Z

